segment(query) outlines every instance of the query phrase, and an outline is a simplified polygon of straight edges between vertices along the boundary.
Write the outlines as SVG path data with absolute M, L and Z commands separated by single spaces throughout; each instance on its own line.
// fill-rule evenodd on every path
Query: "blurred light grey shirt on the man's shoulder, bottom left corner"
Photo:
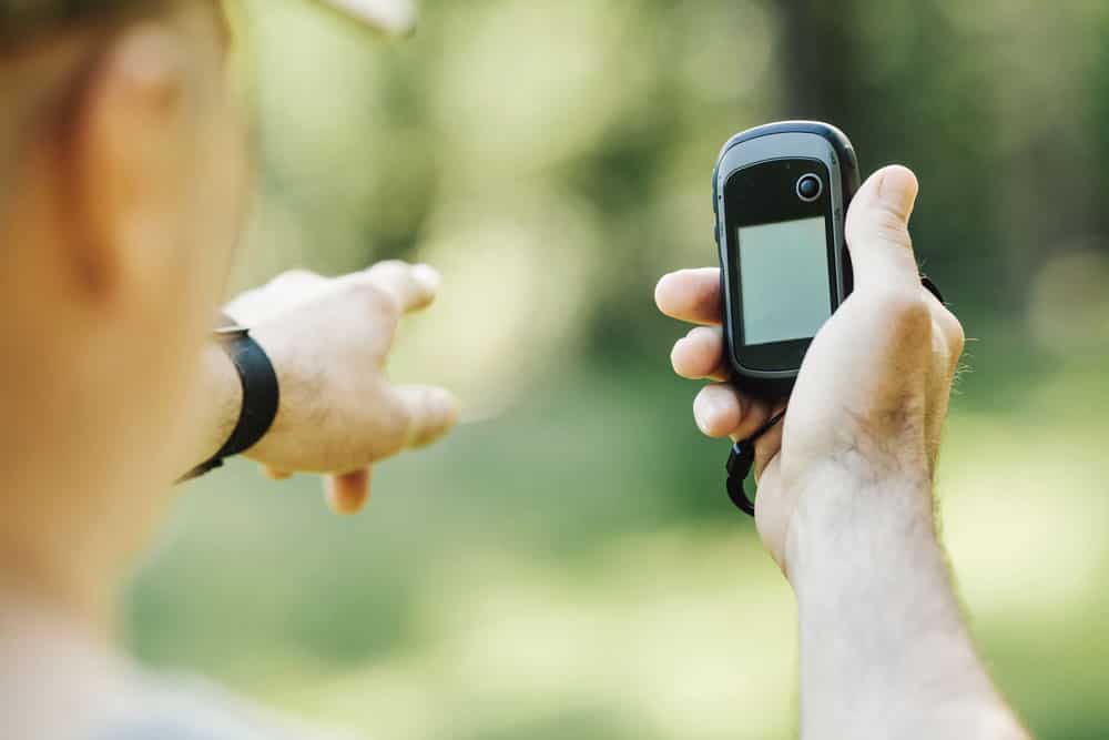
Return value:
M 70 617 L 0 589 L 0 740 L 365 740 L 193 677 L 155 676 Z

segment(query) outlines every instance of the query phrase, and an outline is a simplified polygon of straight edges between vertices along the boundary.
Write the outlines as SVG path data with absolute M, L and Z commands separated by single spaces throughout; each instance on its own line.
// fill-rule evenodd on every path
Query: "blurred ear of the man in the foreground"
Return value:
M 165 271 L 196 149 L 184 37 L 147 21 L 111 41 L 74 100 L 69 158 L 75 226 L 68 247 L 99 297 Z

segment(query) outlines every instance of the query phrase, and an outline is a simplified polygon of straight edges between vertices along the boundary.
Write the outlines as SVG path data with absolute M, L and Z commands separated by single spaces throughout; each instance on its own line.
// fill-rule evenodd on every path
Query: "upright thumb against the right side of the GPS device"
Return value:
M 908 234 L 919 185 L 895 164 L 872 174 L 847 211 L 846 237 L 858 287 L 914 287 L 920 275 Z

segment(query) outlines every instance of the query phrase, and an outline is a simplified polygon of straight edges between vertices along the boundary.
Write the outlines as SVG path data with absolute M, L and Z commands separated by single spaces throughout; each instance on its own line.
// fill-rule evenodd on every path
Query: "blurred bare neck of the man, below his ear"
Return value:
M 31 381 L 18 387 L 30 398 L 13 402 L 28 406 L 13 418 L 29 420 L 13 425 L 20 434 L 0 429 L 9 460 L 0 480 L 0 592 L 63 615 L 106 641 L 116 596 L 164 497 L 144 493 L 153 488 L 147 460 L 121 458 L 120 449 L 135 447 L 131 436 L 80 423 L 99 417 L 114 428 L 106 405 L 102 414 L 80 410 L 70 424 L 57 424 L 67 405 L 77 408 L 75 394 L 57 394 L 57 403 Z M 37 417 L 45 430 L 34 426 Z

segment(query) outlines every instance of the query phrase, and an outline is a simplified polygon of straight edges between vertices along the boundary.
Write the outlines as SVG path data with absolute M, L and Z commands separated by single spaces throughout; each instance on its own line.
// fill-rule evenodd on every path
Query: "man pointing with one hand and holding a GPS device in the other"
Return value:
M 210 338 L 246 190 L 218 8 L 0 3 L 0 737 L 314 737 L 163 688 L 108 647 L 115 590 L 163 506 L 151 491 L 248 416 Z M 916 282 L 914 194 L 898 169 L 861 191 L 857 292 L 759 449 L 760 531 L 800 604 L 806 738 L 1022 737 L 974 655 L 933 530 L 962 333 Z M 246 455 L 275 476 L 337 474 L 330 500 L 353 511 L 374 462 L 446 432 L 448 393 L 380 373 L 398 318 L 437 280 L 399 263 L 293 273 L 233 302 L 279 387 Z M 668 276 L 659 303 L 714 324 L 715 284 L 712 271 Z M 719 335 L 694 330 L 674 364 L 721 379 Z M 770 410 L 726 385 L 696 404 L 713 435 L 743 436 Z

